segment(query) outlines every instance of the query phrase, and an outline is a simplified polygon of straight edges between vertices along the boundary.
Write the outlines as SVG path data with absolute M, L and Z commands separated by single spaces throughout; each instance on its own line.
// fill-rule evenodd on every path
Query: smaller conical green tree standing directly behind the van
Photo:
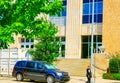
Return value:
M 45 61 L 47 63 L 56 61 L 60 55 L 58 51 L 61 45 L 60 42 L 55 39 L 55 34 L 58 31 L 57 27 L 47 20 L 42 20 L 42 23 L 41 20 L 37 20 L 35 27 L 39 27 L 41 32 L 35 39 L 37 43 L 34 45 L 34 49 L 28 50 L 28 53 L 32 55 L 33 60 Z

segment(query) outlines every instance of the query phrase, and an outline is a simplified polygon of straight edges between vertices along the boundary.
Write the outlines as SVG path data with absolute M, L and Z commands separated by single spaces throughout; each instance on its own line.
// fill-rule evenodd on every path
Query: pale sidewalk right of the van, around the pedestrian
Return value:
M 87 78 L 86 77 L 77 77 L 77 76 L 71 76 L 71 80 L 68 83 L 86 83 Z M 102 79 L 101 77 L 97 77 L 96 79 L 92 78 L 92 83 L 120 83 L 116 80 L 108 80 L 108 79 Z

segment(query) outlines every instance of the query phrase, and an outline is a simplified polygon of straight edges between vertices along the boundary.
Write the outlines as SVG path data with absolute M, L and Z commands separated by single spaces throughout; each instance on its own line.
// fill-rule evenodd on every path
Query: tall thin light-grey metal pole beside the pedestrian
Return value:
M 91 68 L 91 71 L 92 71 L 92 59 L 93 59 L 93 39 L 94 39 L 94 0 L 92 2 L 91 58 L 90 58 L 90 68 Z M 91 79 L 90 83 L 92 83 L 92 79 Z

